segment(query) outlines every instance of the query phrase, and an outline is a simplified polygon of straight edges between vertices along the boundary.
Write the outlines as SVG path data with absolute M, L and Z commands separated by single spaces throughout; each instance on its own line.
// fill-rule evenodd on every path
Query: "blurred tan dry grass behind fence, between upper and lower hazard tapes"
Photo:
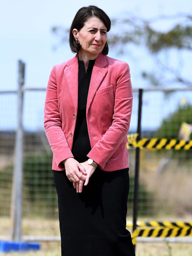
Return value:
M 158 212 L 166 210 L 175 216 L 192 212 L 192 159 L 179 162 L 172 152 L 158 150 L 140 151 L 139 182 L 155 197 Z M 129 152 L 130 174 L 134 175 L 135 152 Z

